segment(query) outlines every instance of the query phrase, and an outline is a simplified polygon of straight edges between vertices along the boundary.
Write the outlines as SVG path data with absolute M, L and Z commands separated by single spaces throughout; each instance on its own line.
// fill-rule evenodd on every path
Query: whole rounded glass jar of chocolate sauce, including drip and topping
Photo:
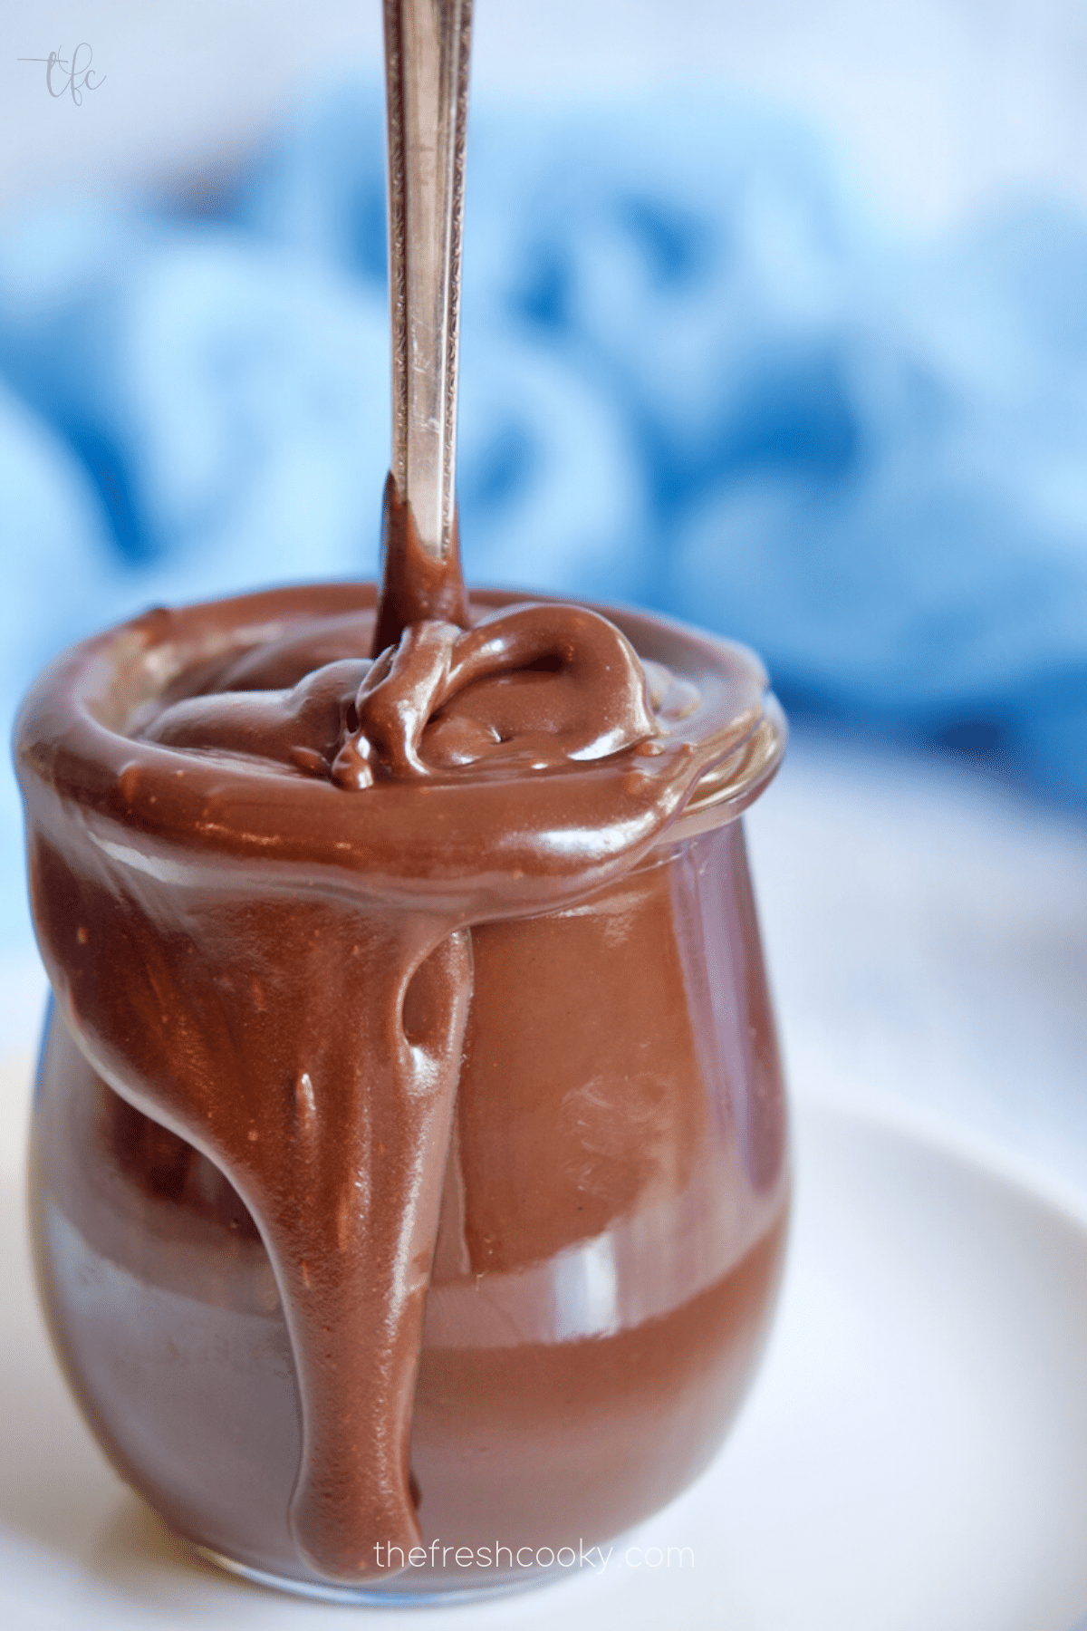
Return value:
M 117 1471 L 341 1600 L 554 1579 L 712 1458 L 789 1202 L 743 648 L 373 589 L 150 612 L 28 696 L 41 1295 Z M 557 1559 L 559 1567 L 552 1566 Z

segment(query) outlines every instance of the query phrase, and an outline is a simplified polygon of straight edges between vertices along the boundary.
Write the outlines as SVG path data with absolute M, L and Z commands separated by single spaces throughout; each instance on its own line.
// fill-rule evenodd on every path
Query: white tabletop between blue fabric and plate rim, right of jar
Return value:
M 797 736 L 748 838 L 795 1086 L 913 1103 L 1087 1192 L 1087 820 Z

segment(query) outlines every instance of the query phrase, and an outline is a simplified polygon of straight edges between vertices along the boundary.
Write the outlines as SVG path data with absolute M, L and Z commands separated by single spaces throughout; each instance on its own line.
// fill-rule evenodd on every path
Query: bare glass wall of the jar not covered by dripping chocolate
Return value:
M 610 615 L 642 652 L 663 628 Z M 114 656 L 103 695 L 127 683 Z M 301 1416 L 253 1215 L 204 1153 L 103 1080 L 78 1005 L 52 1008 L 31 1217 L 54 1344 L 114 1466 L 209 1558 L 352 1602 L 510 1589 L 574 1567 L 714 1456 L 786 1243 L 786 1107 L 740 820 L 782 742 L 771 700 L 631 871 L 471 930 L 412 1412 L 422 1541 L 378 1546 L 365 1587 L 323 1580 L 292 1538 Z M 28 804 L 41 910 L 49 816 Z M 57 959 L 85 953 L 86 912 L 51 910 L 64 998 Z M 161 933 L 184 933 L 183 902 L 173 928 L 163 910 Z

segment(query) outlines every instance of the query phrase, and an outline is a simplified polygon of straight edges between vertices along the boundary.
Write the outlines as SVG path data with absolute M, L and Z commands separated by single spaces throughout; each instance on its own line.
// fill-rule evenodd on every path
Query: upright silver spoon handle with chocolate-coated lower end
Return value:
M 456 372 L 471 0 L 385 0 L 393 462 L 375 656 L 409 623 L 468 625 Z

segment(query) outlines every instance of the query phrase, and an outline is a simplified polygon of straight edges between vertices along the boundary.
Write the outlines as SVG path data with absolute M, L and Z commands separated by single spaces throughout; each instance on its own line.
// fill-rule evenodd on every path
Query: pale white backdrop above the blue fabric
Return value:
M 825 124 L 895 212 L 1087 196 L 1080 0 L 476 0 L 479 96 L 712 80 Z M 44 65 L 86 41 L 73 106 Z M 380 67 L 378 0 L 5 0 L 0 202 L 86 181 L 215 184 L 311 82 Z

